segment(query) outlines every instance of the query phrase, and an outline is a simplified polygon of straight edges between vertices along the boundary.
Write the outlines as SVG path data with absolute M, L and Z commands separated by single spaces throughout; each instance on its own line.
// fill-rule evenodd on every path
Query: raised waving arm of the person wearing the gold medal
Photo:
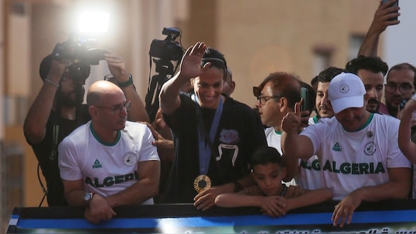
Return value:
M 179 72 L 163 84 L 159 94 L 161 110 L 164 114 L 172 114 L 181 105 L 179 91 L 187 81 L 198 77 L 209 67 L 209 63 L 201 68 L 202 56 L 207 46 L 204 42 L 197 42 L 189 47 L 182 58 Z

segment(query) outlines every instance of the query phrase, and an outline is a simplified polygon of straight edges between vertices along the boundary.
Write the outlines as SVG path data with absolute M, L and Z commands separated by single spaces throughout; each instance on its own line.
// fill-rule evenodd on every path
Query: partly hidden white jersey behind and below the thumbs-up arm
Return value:
M 309 118 L 309 125 L 314 125 L 315 123 L 318 123 L 317 116 Z M 320 189 L 322 188 L 321 176 L 318 156 L 313 155 L 306 161 L 299 159 L 299 170 L 295 176 L 299 187 L 309 190 Z

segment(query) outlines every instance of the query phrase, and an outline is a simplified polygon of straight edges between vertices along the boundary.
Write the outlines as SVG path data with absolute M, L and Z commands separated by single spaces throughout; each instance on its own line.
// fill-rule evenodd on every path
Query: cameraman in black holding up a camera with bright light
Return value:
M 124 59 L 114 54 L 105 54 L 105 60 L 127 100 L 132 102 L 129 120 L 149 121 L 131 76 L 128 75 Z M 68 71 L 68 61 L 58 61 L 52 54 L 46 56 L 39 69 L 43 86 L 24 120 L 24 136 L 34 150 L 45 177 L 46 189 L 42 182 L 40 186 L 47 196 L 49 206 L 67 205 L 59 176 L 57 147 L 76 127 L 91 119 L 87 106 L 82 104 L 83 85 L 89 76 L 90 67 L 88 64 L 80 65 L 80 70 L 85 71 L 81 76 Z

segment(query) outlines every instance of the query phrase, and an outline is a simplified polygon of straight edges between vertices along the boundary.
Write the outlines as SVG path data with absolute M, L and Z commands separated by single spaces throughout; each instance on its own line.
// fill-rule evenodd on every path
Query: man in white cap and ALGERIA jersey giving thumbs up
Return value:
M 406 199 L 410 162 L 399 149 L 400 121 L 366 110 L 368 94 L 352 73 L 336 75 L 328 88 L 334 118 L 321 119 L 300 134 L 299 103 L 282 121 L 283 157 L 309 159 L 318 155 L 322 187 L 331 189 L 333 225 L 350 224 L 362 201 Z

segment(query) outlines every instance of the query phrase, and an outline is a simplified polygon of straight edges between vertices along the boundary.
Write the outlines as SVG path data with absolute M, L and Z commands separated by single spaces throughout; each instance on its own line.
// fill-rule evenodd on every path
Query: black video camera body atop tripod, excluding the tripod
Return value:
M 176 41 L 181 32 L 175 28 L 163 28 L 162 34 L 167 37 L 165 40 L 152 40 L 149 55 L 165 61 L 179 61 L 182 59 L 184 49 Z

